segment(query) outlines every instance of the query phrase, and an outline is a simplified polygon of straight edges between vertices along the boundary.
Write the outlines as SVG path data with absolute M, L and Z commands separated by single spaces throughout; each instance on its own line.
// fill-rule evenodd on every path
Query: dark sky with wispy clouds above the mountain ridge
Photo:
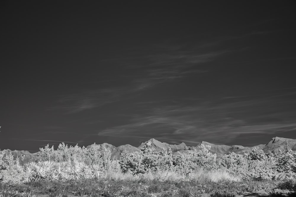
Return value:
M 296 139 L 295 1 L 1 1 L 0 149 Z

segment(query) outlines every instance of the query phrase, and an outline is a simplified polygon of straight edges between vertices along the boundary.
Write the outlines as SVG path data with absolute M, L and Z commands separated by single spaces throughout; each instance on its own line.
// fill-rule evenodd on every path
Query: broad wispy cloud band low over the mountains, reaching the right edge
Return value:
M 158 105 L 146 114 L 132 117 L 126 124 L 99 131 L 98 135 L 159 137 L 170 141 L 177 139 L 178 143 L 188 139 L 227 143 L 245 133 L 276 134 L 296 130 L 293 108 L 283 108 L 289 107 L 287 100 L 275 100 L 272 95 L 232 98 L 239 100 L 221 98 L 193 105 L 182 102 L 180 105 Z

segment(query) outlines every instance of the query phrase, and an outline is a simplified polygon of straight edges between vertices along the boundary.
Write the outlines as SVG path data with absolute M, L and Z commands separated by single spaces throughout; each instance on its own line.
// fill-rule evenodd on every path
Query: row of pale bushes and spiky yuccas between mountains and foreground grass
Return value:
M 9 185 L 40 181 L 69 183 L 79 180 L 132 181 L 137 184 L 143 180 L 163 184 L 187 181 L 189 185 L 194 183 L 194 187 L 198 188 L 192 193 L 193 196 L 205 192 L 221 196 L 222 194 L 219 194 L 221 190 L 207 191 L 209 190 L 206 189 L 207 183 L 212 185 L 216 183 L 242 185 L 252 181 L 292 183 L 296 178 L 296 152 L 288 146 L 279 152 L 264 153 L 262 150 L 252 149 L 248 154 L 240 155 L 232 152 L 220 158 L 209 151 L 210 146 L 205 145 L 200 145 L 198 150 L 178 152 L 174 155 L 171 149 L 157 152 L 150 146 L 151 144 L 147 143 L 140 152 L 122 154 L 119 160 L 111 158 L 110 149 L 98 151 L 95 144 L 86 149 L 62 143 L 57 150 L 47 145 L 26 163 L 22 163 L 19 158 L 14 158 L 11 154 L 5 154 L 5 151 L 0 151 L 0 182 Z M 250 189 L 249 186 L 245 189 L 239 187 L 240 191 Z M 101 193 L 105 189 L 101 188 Z M 180 189 L 171 187 L 168 191 L 180 193 Z M 142 190 L 147 193 L 149 189 L 142 188 Z M 124 193 L 123 191 L 124 186 L 120 192 L 117 191 L 118 195 Z M 177 193 L 170 193 L 169 196 L 176 196 Z M 238 190 L 235 193 L 239 193 Z M 138 194 L 131 192 L 131 196 L 133 195 Z

